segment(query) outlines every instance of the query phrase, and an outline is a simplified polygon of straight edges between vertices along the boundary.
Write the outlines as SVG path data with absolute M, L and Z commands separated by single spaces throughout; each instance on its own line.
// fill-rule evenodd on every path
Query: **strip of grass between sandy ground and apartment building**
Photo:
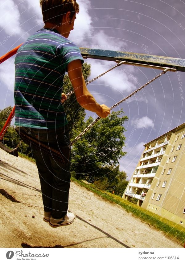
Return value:
M 185 229 L 178 224 L 167 220 L 157 214 L 154 214 L 146 209 L 143 209 L 136 204 L 133 204 L 125 199 L 122 199 L 120 196 L 113 195 L 106 191 L 101 191 L 93 188 L 91 185 L 85 184 L 84 182 L 78 181 L 75 178 L 71 178 L 72 182 L 76 182 L 80 186 L 87 188 L 93 193 L 101 196 L 103 199 L 106 199 L 112 203 L 116 203 L 124 208 L 128 213 L 132 213 L 134 217 L 139 218 L 142 222 L 147 223 L 149 226 L 155 227 L 157 230 L 162 231 L 171 239 L 175 239 L 182 245 L 185 242 Z

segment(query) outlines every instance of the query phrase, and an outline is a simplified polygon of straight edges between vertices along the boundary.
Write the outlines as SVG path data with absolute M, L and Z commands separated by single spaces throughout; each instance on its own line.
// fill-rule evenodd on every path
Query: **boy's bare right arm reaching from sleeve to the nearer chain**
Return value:
M 81 107 L 96 112 L 101 118 L 105 118 L 110 114 L 110 108 L 104 104 L 100 105 L 97 103 L 92 94 L 88 91 L 82 74 L 80 59 L 74 60 L 68 64 L 68 76 L 72 83 L 76 100 Z

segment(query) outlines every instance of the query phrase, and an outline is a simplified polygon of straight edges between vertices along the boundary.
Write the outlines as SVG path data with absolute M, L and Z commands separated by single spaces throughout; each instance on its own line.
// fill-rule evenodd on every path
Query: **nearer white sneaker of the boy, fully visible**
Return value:
M 76 215 L 73 214 L 72 212 L 67 212 L 67 214 L 60 219 L 55 219 L 51 216 L 49 225 L 51 227 L 70 225 L 74 222 L 75 218 L 76 218 Z

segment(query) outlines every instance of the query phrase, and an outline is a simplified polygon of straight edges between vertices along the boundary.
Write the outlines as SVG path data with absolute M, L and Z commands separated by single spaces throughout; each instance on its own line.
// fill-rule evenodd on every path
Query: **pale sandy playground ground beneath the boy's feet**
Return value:
M 70 226 L 51 228 L 43 221 L 36 165 L 0 149 L 0 247 L 182 248 L 117 204 L 71 183 Z

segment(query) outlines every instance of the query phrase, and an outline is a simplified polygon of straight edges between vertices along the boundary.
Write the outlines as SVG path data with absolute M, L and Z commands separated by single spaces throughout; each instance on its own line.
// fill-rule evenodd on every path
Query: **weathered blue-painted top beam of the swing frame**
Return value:
M 122 60 L 130 63 L 175 68 L 177 71 L 185 72 L 185 59 L 83 47 L 80 48 L 80 51 L 85 58 L 108 61 Z

